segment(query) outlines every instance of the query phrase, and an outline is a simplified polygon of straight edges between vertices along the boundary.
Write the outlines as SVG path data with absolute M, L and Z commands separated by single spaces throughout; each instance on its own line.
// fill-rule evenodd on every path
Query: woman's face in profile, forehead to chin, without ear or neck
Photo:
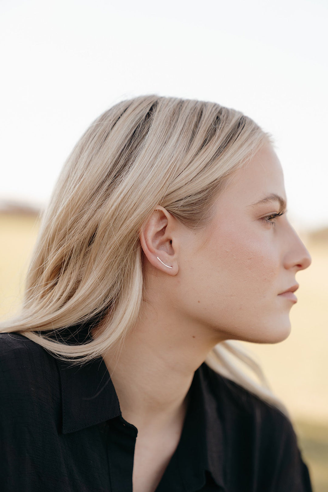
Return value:
M 311 257 L 286 213 L 269 218 L 286 210 L 277 200 L 256 204 L 272 194 L 286 201 L 281 164 L 268 144 L 234 174 L 210 225 L 180 237 L 171 302 L 226 339 L 275 343 L 290 333 L 295 302 L 279 294 L 298 283 Z

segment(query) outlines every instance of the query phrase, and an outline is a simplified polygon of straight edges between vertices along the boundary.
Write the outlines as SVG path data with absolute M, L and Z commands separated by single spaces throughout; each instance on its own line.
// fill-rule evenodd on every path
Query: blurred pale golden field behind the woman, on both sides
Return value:
M 0 213 L 0 318 L 18 308 L 36 239 L 36 216 Z M 290 336 L 277 344 L 244 342 L 289 409 L 315 492 L 328 491 L 328 238 L 300 234 L 311 266 L 298 272 Z

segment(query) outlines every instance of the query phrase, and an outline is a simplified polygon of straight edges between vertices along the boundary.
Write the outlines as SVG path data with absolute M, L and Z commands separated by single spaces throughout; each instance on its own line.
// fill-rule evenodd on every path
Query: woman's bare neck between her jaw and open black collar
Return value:
M 181 419 L 195 370 L 220 341 L 177 313 L 144 309 L 124 342 L 103 355 L 123 418 L 137 429 Z

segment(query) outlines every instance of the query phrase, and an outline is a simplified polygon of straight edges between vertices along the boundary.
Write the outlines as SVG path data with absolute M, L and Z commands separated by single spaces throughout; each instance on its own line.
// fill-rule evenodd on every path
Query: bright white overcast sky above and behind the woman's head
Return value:
M 328 2 L 0 2 L 0 199 L 44 205 L 84 130 L 156 93 L 243 111 L 276 142 L 288 215 L 328 226 Z

